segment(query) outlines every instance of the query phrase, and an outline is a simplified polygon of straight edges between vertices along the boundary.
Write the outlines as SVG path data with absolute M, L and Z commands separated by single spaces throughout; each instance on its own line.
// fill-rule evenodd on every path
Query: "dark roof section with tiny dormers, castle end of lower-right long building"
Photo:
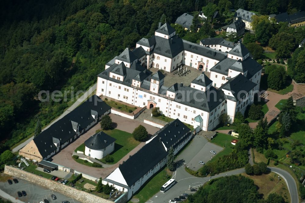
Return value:
M 175 119 L 172 122 L 166 124 L 161 130 L 156 132 L 158 140 L 161 138 L 161 142 L 167 149 L 170 147 L 175 148 L 175 143 L 183 137 L 186 133 L 190 133 L 190 130 L 184 123 L 179 119 Z

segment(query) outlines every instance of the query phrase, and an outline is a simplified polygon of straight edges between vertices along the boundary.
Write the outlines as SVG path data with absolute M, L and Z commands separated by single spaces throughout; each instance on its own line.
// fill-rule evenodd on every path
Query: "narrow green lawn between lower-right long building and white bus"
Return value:
M 152 179 L 149 180 L 149 182 L 146 182 L 144 186 L 142 186 L 132 198 L 138 198 L 140 203 L 145 203 L 147 200 L 149 200 L 149 198 L 160 191 L 162 185 L 170 180 L 170 177 L 163 179 L 164 170 L 165 169 L 163 168 L 158 173 L 156 173 L 156 175 L 154 175 Z M 128 203 L 132 202 L 128 201 Z

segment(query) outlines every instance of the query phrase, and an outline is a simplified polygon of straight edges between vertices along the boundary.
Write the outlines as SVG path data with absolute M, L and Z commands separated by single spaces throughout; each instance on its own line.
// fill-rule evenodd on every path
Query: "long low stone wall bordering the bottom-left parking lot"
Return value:
M 54 180 L 50 180 L 50 179 L 46 179 L 41 176 L 34 175 L 32 173 L 14 168 L 12 166 L 5 166 L 4 173 L 33 182 L 33 183 L 41 185 L 43 187 L 47 187 L 51 190 L 60 192 L 66 196 L 75 198 L 76 200 L 84 202 L 84 203 L 92 203 L 92 202 L 113 203 L 113 201 L 109 201 L 109 200 L 100 198 L 96 195 L 77 190 L 74 187 L 70 187 L 70 186 L 64 185 L 62 183 L 58 183 Z

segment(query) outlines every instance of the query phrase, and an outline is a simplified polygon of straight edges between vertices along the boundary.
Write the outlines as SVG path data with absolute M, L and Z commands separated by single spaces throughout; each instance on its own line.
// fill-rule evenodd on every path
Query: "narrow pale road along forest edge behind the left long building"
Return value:
M 63 112 L 63 114 L 61 114 L 59 117 L 57 117 L 55 120 L 53 120 L 51 123 L 49 123 L 47 126 L 45 126 L 43 130 L 46 130 L 47 128 L 49 128 L 53 123 L 55 123 L 56 121 L 58 121 L 59 119 L 63 118 L 64 116 L 66 116 L 69 112 L 71 112 L 72 110 L 74 110 L 78 105 L 81 104 L 81 102 L 83 102 L 93 91 L 96 90 L 96 83 L 94 85 L 92 85 L 80 98 L 78 98 L 74 104 L 72 104 L 68 109 L 66 109 L 66 111 Z M 33 137 L 30 137 L 27 141 L 19 144 L 17 147 L 13 148 L 13 152 L 19 151 L 21 148 L 23 148 L 25 145 L 27 145 L 27 143 L 29 143 L 31 140 L 34 139 Z

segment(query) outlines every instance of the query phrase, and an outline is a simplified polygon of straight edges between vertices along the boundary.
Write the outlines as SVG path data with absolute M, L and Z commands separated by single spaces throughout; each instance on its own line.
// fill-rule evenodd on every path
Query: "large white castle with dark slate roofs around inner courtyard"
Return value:
M 138 107 L 159 107 L 165 116 L 198 130 L 213 130 L 222 113 L 233 121 L 236 112 L 244 113 L 253 103 L 262 66 L 241 43 L 213 39 L 194 44 L 165 23 L 154 36 L 138 41 L 134 50 L 126 48 L 106 64 L 98 75 L 96 94 Z M 210 78 L 202 73 L 190 86 L 165 87 L 165 76 L 149 71 L 155 67 L 172 72 L 182 64 L 209 72 Z

